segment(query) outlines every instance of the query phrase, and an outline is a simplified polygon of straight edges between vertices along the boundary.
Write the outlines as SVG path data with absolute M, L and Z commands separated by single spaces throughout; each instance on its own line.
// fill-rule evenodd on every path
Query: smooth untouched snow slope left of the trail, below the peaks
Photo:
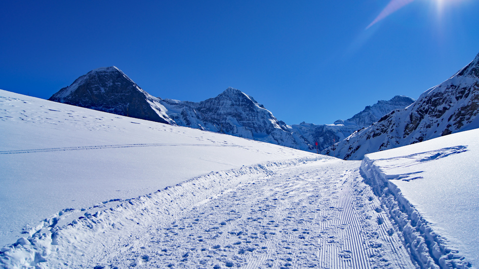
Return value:
M 0 247 L 50 216 L 55 226 L 211 171 L 318 157 L 3 90 L 0 138 Z

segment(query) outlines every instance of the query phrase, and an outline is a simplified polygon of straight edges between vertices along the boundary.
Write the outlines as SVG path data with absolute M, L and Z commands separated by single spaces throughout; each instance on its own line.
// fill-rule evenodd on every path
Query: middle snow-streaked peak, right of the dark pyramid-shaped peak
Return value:
M 238 89 L 228 88 L 218 96 L 199 103 L 164 99 L 161 104 L 166 113 L 181 126 L 293 149 L 311 149 L 311 145 L 301 135 L 291 133 L 284 122 L 279 121 L 253 97 Z

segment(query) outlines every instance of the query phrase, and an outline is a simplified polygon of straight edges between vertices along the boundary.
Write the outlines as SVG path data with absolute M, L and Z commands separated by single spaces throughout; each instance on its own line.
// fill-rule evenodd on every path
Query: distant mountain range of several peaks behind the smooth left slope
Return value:
M 414 102 L 406 96 L 379 101 L 362 112 L 334 124 L 302 122 L 286 125 L 252 96 L 228 88 L 201 102 L 161 99 L 151 96 L 116 67 L 98 68 L 76 79 L 49 98 L 51 101 L 147 119 L 167 124 L 221 132 L 286 146 L 321 151 L 354 131 L 370 125 L 386 113 Z

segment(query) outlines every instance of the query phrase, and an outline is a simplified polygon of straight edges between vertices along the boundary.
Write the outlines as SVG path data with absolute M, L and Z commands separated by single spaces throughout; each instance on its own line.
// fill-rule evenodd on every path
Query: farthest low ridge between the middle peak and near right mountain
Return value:
M 291 125 L 289 129 L 291 132 L 304 137 L 311 145 L 315 145 L 318 142 L 318 150 L 322 151 L 334 143 L 347 138 L 356 130 L 378 121 L 387 113 L 395 109 L 403 109 L 414 103 L 414 101 L 410 97 L 397 95 L 389 101 L 380 100 L 372 106 L 367 106 L 363 111 L 347 120 L 339 119 L 334 124 L 321 125 L 301 122 L 300 124 Z

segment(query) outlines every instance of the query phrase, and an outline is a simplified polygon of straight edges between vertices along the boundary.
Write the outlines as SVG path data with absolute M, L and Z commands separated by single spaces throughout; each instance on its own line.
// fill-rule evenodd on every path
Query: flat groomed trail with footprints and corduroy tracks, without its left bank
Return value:
M 99 254 L 97 268 L 415 268 L 359 161 L 239 184 Z M 87 266 L 88 267 L 88 266 Z

